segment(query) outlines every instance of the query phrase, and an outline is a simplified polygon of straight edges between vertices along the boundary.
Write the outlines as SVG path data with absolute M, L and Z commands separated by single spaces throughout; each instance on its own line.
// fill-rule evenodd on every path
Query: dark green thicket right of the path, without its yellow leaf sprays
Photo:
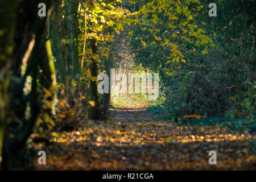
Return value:
M 202 50 L 195 39 L 181 39 L 187 29 L 175 26 L 168 30 L 168 17 L 161 16 L 156 24 L 160 36 L 152 43 L 152 34 L 146 28 L 135 26 L 134 37 L 147 41 L 141 47 L 138 40 L 131 41 L 136 63 L 160 72 L 164 105 L 173 115 L 199 114 L 219 117 L 255 116 L 255 2 L 218 1 L 217 16 L 208 15 L 210 1 L 191 16 L 191 22 L 200 24 L 214 46 Z M 189 6 L 193 9 L 194 6 Z M 145 26 L 151 15 L 144 17 Z M 168 22 L 168 23 L 166 23 Z M 188 23 L 177 18 L 181 24 Z M 156 34 L 156 33 L 155 33 Z M 173 50 L 164 39 L 177 43 L 185 61 L 170 60 Z M 204 41 L 203 38 L 201 41 Z

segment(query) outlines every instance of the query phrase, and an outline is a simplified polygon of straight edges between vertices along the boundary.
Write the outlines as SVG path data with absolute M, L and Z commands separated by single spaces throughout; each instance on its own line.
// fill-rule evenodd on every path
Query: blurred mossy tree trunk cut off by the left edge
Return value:
M 14 49 L 14 27 L 16 20 L 16 0 L 0 2 L 0 164 L 2 148 L 8 118 L 7 102 L 9 97 L 9 70 Z

